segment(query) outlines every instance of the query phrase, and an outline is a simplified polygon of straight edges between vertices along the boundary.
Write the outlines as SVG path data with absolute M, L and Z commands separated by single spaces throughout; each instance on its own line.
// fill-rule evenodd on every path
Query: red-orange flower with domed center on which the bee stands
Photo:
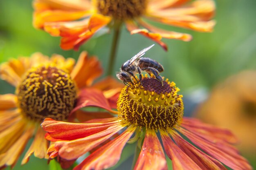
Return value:
M 77 159 L 124 129 L 120 135 L 92 152 L 74 170 L 103 170 L 114 166 L 125 144 L 137 139 L 139 146 L 139 141 L 144 139 L 144 142 L 135 170 L 167 170 L 164 150 L 173 161 L 173 170 L 226 170 L 223 164 L 235 170 L 252 169 L 232 145 L 236 138 L 229 130 L 192 118 L 182 119 L 182 95 L 177 94 L 179 88 L 175 83 L 166 79 L 162 86 L 153 77 L 143 77 L 142 84 L 129 85 L 123 88 L 119 96 L 118 117 L 94 119 L 80 124 L 45 119 L 42 123 L 47 131 L 45 137 L 56 141 L 49 152 L 50 157 L 59 155 L 67 160 Z

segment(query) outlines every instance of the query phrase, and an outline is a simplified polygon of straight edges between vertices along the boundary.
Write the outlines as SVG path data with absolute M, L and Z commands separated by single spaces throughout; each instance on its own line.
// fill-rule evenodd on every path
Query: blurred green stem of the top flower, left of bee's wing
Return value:
M 116 55 L 117 55 L 117 46 L 118 46 L 118 41 L 119 41 L 119 37 L 120 37 L 120 32 L 121 32 L 121 25 L 122 22 L 119 20 L 115 20 L 114 21 L 114 36 L 113 36 L 113 41 L 112 41 L 112 46 L 111 46 L 111 51 L 110 51 L 110 60 L 108 62 L 108 71 L 107 71 L 107 75 L 111 75 L 113 72 L 113 68 L 115 65 L 115 59 L 116 59 Z

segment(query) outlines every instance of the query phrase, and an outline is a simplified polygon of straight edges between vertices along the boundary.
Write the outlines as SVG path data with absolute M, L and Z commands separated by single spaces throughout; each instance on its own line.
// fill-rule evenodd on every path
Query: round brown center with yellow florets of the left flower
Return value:
M 74 108 L 76 86 L 70 75 L 55 66 L 31 68 L 16 89 L 21 113 L 36 121 L 64 120 Z

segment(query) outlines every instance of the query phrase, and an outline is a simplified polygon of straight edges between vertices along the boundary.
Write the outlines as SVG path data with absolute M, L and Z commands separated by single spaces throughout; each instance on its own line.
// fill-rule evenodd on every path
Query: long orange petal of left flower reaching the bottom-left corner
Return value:
M 7 152 L 0 155 L 0 168 L 2 166 L 15 166 L 18 158 L 20 157 L 21 153 L 25 149 L 25 146 L 28 140 L 33 135 L 34 128 L 27 129 L 13 144 Z

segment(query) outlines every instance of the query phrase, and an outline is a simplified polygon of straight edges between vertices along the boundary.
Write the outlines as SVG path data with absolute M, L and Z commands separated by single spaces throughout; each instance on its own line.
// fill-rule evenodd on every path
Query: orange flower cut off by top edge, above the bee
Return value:
M 215 21 L 213 0 L 35 0 L 34 26 L 61 36 L 61 48 L 79 46 L 111 21 L 125 22 L 131 34 L 139 33 L 167 50 L 162 38 L 190 41 L 191 35 L 157 28 L 148 20 L 170 26 L 211 32 Z M 114 26 L 115 27 L 115 26 Z

